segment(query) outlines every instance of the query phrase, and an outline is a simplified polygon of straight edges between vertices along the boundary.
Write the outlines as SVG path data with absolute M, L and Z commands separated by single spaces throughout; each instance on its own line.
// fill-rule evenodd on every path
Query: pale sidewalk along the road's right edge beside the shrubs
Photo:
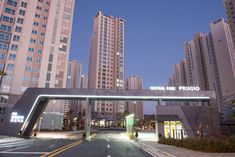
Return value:
M 158 157 L 235 157 L 235 153 L 203 153 L 154 141 L 138 141 L 133 144 Z

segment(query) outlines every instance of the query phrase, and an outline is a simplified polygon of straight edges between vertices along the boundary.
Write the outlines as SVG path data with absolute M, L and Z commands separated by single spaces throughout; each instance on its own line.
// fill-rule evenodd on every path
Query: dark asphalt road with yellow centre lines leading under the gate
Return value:
M 121 132 L 99 132 L 82 139 L 25 139 L 0 143 L 0 157 L 151 157 Z

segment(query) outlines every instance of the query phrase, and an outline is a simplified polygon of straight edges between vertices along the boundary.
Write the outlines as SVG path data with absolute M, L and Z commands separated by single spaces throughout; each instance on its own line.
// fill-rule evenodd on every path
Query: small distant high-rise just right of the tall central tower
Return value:
M 138 76 L 130 76 L 126 80 L 126 89 L 143 89 L 143 79 Z M 143 101 L 128 101 L 126 102 L 126 111 L 134 113 L 135 118 L 142 120 L 144 118 Z

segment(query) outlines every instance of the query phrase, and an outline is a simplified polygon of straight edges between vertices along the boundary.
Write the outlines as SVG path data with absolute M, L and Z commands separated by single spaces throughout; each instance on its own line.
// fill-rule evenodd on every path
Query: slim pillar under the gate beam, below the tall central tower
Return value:
M 94 100 L 87 99 L 87 109 L 86 109 L 86 119 L 85 119 L 85 133 L 86 140 L 90 141 L 91 139 L 91 105 Z

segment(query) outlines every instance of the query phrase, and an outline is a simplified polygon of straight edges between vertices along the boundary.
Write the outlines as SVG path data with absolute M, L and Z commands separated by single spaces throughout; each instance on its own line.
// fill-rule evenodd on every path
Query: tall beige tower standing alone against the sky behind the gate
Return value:
M 94 18 L 91 38 L 88 88 L 124 89 L 125 20 L 104 15 Z M 117 120 L 124 112 L 123 102 L 96 102 L 96 119 Z

